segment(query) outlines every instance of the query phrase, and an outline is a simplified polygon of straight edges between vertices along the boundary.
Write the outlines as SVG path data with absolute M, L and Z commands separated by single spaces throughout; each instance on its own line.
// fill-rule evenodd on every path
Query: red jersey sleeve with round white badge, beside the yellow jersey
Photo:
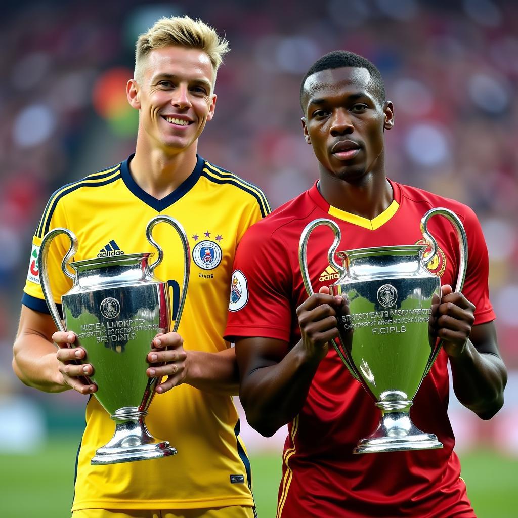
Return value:
M 289 341 L 291 266 L 282 242 L 261 223 L 241 240 L 234 261 L 225 339 L 265 337 Z

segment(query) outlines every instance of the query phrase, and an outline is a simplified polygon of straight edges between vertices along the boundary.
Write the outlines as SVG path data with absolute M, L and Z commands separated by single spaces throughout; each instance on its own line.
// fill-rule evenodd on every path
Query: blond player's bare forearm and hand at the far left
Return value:
M 60 349 L 56 349 L 53 338 Z M 70 363 L 84 357 L 84 349 L 66 348 L 64 342 L 73 343 L 74 340 L 73 334 L 56 331 L 49 314 L 22 305 L 18 334 L 13 345 L 12 368 L 15 374 L 25 385 L 44 392 L 68 389 L 81 394 L 95 392 L 95 385 L 83 383 L 79 378 L 92 373 L 91 365 Z

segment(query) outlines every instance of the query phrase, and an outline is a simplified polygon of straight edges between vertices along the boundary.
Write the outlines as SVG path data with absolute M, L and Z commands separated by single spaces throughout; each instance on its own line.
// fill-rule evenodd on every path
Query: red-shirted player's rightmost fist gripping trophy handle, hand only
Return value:
M 433 301 L 429 326 L 443 340 L 442 347 L 449 356 L 464 353 L 475 321 L 474 310 L 475 306 L 462 293 L 453 293 L 449 284 L 441 286 L 441 301 Z

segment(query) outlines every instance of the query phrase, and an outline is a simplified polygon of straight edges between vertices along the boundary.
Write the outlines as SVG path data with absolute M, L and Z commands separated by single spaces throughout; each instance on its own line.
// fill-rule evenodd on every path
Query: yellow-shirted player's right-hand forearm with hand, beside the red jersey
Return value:
M 153 340 L 153 350 L 148 354 L 151 364 L 149 377 L 167 376 L 156 386 L 162 394 L 180 383 L 187 383 L 206 392 L 237 395 L 239 373 L 234 348 L 217 353 L 183 349 L 183 340 L 178 333 L 158 335 Z M 163 365 L 167 362 L 166 365 Z

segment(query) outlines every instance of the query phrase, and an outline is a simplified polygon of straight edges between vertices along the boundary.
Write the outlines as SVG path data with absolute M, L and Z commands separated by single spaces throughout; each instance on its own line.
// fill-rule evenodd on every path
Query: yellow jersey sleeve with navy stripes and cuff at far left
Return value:
M 41 242 L 45 237 L 46 232 L 57 227 L 69 228 L 66 221 L 65 209 L 63 203 L 57 203 L 56 207 L 52 209 L 52 206 L 49 202 L 49 205 L 47 206 L 47 209 L 45 210 L 33 237 L 27 279 L 25 281 L 25 287 L 23 289 L 22 296 L 22 304 L 24 306 L 34 309 L 35 311 L 40 311 L 42 313 L 50 313 L 50 311 L 47 307 L 47 303 L 41 288 L 38 254 L 41 247 Z M 72 281 L 67 276 L 65 276 L 61 270 L 61 262 L 63 261 L 63 257 L 68 252 L 69 246 L 70 240 L 67 236 L 56 236 L 50 243 L 48 254 L 47 267 L 50 287 L 54 302 L 58 305 L 59 309 L 61 307 L 61 296 L 69 291 L 70 287 L 72 286 Z

